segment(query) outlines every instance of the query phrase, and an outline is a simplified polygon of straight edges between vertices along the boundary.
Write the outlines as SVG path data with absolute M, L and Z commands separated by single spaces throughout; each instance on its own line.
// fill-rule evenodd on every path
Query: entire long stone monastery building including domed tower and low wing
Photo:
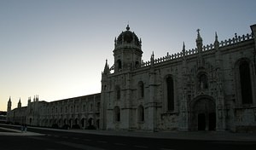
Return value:
M 142 40 L 130 26 L 114 40 L 102 92 L 61 101 L 28 101 L 7 120 L 39 126 L 102 130 L 254 130 L 256 128 L 256 25 L 252 33 L 203 44 L 143 62 Z

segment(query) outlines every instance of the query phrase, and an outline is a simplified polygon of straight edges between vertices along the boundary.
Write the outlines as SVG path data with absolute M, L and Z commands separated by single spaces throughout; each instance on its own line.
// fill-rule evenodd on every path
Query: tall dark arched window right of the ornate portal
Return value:
M 253 103 L 253 93 L 252 93 L 252 82 L 250 74 L 250 66 L 247 61 L 241 61 L 239 65 L 240 74 L 240 85 L 241 85 L 241 101 L 242 104 L 252 104 Z

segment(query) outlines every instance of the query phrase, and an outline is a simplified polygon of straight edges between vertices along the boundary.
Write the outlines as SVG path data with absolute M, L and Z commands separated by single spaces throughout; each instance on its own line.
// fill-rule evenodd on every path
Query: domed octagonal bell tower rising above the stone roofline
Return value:
M 114 39 L 114 72 L 140 67 L 142 55 L 142 41 L 137 38 L 134 32 L 130 31 L 130 27 L 127 25 L 126 31 L 121 32 L 119 37 Z

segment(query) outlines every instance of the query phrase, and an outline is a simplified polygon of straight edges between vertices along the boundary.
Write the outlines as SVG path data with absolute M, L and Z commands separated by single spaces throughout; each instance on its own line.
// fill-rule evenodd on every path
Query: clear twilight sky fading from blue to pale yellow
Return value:
M 251 33 L 255 0 L 0 0 L 0 111 L 28 97 L 57 101 L 101 92 L 114 38 L 142 38 L 143 61 Z

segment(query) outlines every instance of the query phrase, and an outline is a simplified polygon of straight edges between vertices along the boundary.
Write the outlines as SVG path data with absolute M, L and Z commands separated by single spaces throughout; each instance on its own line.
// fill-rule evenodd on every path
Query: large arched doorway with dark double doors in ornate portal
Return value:
M 189 103 L 190 130 L 216 130 L 216 102 L 209 95 L 199 95 Z

